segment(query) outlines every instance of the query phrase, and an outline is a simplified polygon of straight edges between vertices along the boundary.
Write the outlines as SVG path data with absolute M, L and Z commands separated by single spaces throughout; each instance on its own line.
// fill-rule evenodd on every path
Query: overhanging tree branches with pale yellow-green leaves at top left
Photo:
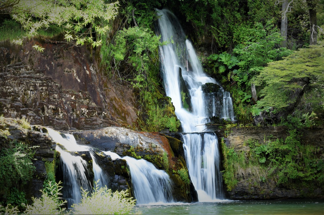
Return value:
M 63 28 L 64 39 L 68 42 L 75 42 L 75 45 L 89 43 L 94 47 L 101 45 L 101 40 L 96 41 L 93 34 L 103 34 L 109 29 L 108 21 L 117 15 L 118 5 L 118 2 L 108 4 L 104 0 L 5 0 L 1 3 L 26 31 L 13 41 L 16 44 L 21 45 L 23 38 L 30 39 L 39 30 L 55 25 Z

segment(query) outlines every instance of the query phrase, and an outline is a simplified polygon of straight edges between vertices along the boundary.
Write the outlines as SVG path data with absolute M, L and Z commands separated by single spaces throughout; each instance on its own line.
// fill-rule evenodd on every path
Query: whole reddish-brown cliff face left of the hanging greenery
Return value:
M 28 116 L 32 124 L 55 129 L 93 129 L 136 122 L 133 93 L 112 85 L 99 72 L 98 51 L 86 46 L 31 42 L 0 47 L 0 113 Z

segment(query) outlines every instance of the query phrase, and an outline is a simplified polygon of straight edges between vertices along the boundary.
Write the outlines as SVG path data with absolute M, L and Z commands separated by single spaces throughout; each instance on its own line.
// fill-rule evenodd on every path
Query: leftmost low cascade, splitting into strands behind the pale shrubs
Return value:
M 108 176 L 99 167 L 94 152 L 89 147 L 77 144 L 74 136 L 71 134 L 62 134 L 64 136 L 62 137 L 60 133 L 51 128 L 47 128 L 47 130 L 52 139 L 58 143 L 56 150 L 60 152 L 60 163 L 63 172 L 62 192 L 63 197 L 68 202 L 68 206 L 80 202 L 82 197 L 80 187 L 88 191 L 92 190 L 92 182 L 89 181 L 91 172 L 89 171 L 87 161 L 80 156 L 72 155 L 74 152 L 71 153 L 70 151 L 89 151 L 92 158 L 94 181 L 100 179 L 100 186 L 108 186 Z

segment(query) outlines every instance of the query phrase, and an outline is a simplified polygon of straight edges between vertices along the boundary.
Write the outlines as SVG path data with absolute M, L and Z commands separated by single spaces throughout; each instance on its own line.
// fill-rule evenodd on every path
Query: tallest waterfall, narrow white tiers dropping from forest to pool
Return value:
M 161 17 L 158 19 L 156 34 L 161 34 L 163 41 L 169 38 L 174 41 L 173 44 L 159 48 L 161 70 L 166 94 L 172 99 L 184 132 L 183 147 L 192 183 L 197 190 L 199 201 L 224 199 L 217 137 L 211 132 L 199 132 L 207 129 L 205 124 L 210 122 L 210 116 L 217 115 L 217 108 L 221 110 L 221 118 L 234 120 L 231 98 L 229 93 L 220 87 L 223 108 L 216 107 L 215 94 L 211 97 L 211 108 L 207 108 L 209 98 L 203 92 L 202 86 L 206 83 L 219 86 L 220 84 L 203 72 L 201 62 L 191 42 L 185 39 L 177 18 L 166 9 L 157 9 L 157 13 Z M 184 95 L 186 90 L 191 98 L 191 112 L 183 108 L 185 101 L 181 95 Z

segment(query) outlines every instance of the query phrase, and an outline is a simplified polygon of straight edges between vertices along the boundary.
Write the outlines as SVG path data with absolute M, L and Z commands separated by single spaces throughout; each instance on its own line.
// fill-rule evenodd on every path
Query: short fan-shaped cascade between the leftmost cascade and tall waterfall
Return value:
M 137 204 L 163 204 L 172 201 L 172 182 L 169 175 L 145 159 L 128 156 L 121 158 L 114 152 L 104 151 L 111 159 L 125 159 L 132 177 Z

